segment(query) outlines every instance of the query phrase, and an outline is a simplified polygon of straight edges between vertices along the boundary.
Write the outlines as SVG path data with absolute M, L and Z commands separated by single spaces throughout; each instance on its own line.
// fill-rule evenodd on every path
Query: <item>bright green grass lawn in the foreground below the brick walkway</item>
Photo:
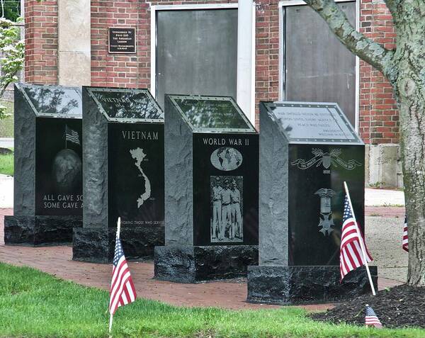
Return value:
M 108 337 L 108 292 L 0 264 L 0 337 Z M 297 308 L 178 308 L 137 300 L 115 312 L 113 337 L 425 337 L 421 329 L 314 322 Z

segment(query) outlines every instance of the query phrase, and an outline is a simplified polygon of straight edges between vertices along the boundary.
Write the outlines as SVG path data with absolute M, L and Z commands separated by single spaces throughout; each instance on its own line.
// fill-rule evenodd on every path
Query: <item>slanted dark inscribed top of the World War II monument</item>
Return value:
M 195 133 L 256 133 L 233 98 L 169 95 Z

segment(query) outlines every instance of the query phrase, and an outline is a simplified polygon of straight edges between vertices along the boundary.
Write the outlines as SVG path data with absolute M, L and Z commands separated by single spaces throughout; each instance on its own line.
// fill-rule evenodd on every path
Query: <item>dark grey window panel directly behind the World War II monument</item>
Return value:
M 236 98 L 237 9 L 157 13 L 157 101 L 164 94 Z

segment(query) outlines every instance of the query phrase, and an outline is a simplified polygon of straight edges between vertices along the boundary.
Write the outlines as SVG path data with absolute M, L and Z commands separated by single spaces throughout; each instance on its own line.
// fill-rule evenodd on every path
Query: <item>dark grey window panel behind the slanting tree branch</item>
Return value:
M 356 3 L 340 3 L 356 24 Z M 356 119 L 356 57 L 309 6 L 285 9 L 285 100 L 336 102 L 352 125 Z

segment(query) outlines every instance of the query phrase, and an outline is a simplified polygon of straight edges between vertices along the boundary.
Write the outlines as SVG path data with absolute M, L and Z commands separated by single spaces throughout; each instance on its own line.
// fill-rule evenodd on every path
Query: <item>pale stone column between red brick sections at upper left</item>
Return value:
M 90 0 L 57 1 L 59 84 L 91 84 Z

